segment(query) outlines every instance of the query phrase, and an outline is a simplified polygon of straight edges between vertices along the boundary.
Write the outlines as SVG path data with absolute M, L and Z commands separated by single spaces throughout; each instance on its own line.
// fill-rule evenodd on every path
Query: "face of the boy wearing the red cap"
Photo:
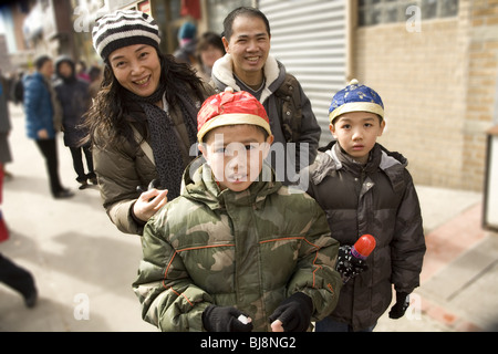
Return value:
M 257 126 L 238 124 L 214 128 L 199 150 L 221 189 L 241 191 L 258 178 L 271 143 Z

